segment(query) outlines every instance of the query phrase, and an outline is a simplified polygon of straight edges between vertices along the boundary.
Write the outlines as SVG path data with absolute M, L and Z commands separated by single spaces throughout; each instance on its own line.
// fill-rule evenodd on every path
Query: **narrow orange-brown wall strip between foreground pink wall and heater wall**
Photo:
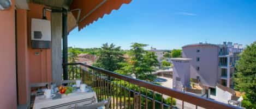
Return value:
M 17 78 L 19 104 L 28 102 L 29 66 L 27 47 L 27 10 L 16 10 L 17 25 Z

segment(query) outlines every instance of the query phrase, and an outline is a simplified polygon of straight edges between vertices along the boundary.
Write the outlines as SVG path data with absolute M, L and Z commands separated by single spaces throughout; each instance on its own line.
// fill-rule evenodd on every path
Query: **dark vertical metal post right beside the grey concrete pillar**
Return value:
M 68 14 L 67 10 L 62 8 L 62 52 L 63 52 L 63 79 L 68 79 Z

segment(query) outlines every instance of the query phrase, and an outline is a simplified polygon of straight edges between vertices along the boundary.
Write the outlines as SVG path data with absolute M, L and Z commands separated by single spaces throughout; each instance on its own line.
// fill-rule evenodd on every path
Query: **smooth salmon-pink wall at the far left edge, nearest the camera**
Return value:
M 15 4 L 15 1 L 11 1 Z M 0 10 L 0 107 L 17 108 L 15 62 L 15 8 Z

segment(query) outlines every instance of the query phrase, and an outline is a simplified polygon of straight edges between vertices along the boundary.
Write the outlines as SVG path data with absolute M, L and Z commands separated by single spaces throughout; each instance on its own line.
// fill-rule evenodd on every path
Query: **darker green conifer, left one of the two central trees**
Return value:
M 124 62 L 123 52 L 121 47 L 115 47 L 115 45 L 105 43 L 100 48 L 98 53 L 98 59 L 94 66 L 114 71 L 121 68 L 118 63 Z

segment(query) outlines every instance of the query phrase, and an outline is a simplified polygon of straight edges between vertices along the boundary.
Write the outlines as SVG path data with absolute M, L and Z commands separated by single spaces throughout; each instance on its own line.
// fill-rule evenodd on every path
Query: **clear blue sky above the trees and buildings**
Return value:
M 129 49 L 138 42 L 148 44 L 146 49 L 180 49 L 205 41 L 256 41 L 256 1 L 133 0 L 68 36 L 68 46 L 80 48 L 108 42 Z

